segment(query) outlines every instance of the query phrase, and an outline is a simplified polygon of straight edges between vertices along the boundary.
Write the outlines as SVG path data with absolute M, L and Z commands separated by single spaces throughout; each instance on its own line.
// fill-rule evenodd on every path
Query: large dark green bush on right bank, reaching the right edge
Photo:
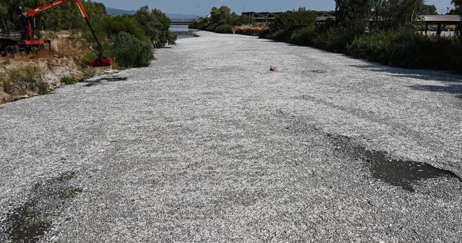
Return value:
M 462 71 L 458 40 L 423 36 L 412 29 L 358 36 L 348 46 L 347 54 L 397 67 Z

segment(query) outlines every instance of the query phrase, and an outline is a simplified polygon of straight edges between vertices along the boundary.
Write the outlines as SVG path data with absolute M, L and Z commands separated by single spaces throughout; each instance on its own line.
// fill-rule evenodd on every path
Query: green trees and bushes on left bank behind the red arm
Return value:
M 0 28 L 8 30 L 25 29 L 25 22 L 20 18 L 19 7 L 24 7 L 26 12 L 48 2 L 48 0 L 2 0 L 0 2 Z M 102 41 L 104 54 L 108 57 L 113 57 L 116 67 L 144 67 L 146 62 L 150 62 L 154 58 L 152 56 L 146 59 L 147 53 L 153 54 L 152 48 L 147 48 L 146 46 L 162 48 L 167 44 L 175 44 L 176 35 L 169 31 L 172 22 L 165 13 L 158 9 L 150 11 L 148 6 L 144 6 L 134 15 L 111 16 L 106 13 L 104 4 L 83 1 L 83 5 L 88 15 L 90 15 L 90 22 L 92 22 L 99 39 Z M 36 16 L 34 24 L 37 29 L 72 30 L 83 33 L 85 41 L 89 42 L 93 47 L 96 46 L 96 41 L 94 41 L 90 29 L 88 29 L 85 20 L 83 20 L 73 1 L 43 11 L 43 13 Z M 129 39 L 127 37 L 127 34 L 129 34 L 137 39 L 137 41 L 132 39 L 130 43 L 136 43 L 138 47 L 140 46 L 139 43 L 142 43 L 142 48 L 121 48 L 120 44 L 116 42 L 121 38 L 120 33 L 122 32 L 125 33 L 123 34 L 125 36 L 124 41 Z M 123 51 L 130 52 L 123 53 Z M 87 53 L 80 52 L 79 54 L 81 57 L 78 59 L 83 67 L 90 65 L 92 58 L 95 57 L 90 52 L 90 49 L 88 49 Z M 125 57 L 130 55 L 133 57 Z M 123 56 L 124 58 L 121 58 Z M 133 60 L 128 61 L 130 58 Z

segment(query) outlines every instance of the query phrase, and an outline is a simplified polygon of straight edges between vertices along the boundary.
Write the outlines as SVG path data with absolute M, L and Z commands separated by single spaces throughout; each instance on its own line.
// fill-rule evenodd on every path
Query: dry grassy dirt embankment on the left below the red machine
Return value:
M 31 55 L 0 57 L 0 104 L 44 95 L 69 84 L 69 79 L 73 83 L 102 73 L 89 67 L 94 55 L 80 35 L 48 33 L 47 39 L 52 39 L 51 52 L 44 48 Z

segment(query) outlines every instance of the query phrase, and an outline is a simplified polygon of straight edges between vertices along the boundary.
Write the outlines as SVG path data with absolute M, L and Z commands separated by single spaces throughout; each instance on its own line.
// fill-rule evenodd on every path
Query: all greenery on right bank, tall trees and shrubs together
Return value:
M 461 1 L 454 2 L 460 8 Z M 419 33 L 419 15 L 433 12 L 422 0 L 336 0 L 335 22 L 315 25 L 313 12 L 300 8 L 277 16 L 260 37 L 396 67 L 461 72 L 460 38 Z M 370 25 L 370 18 L 384 21 Z

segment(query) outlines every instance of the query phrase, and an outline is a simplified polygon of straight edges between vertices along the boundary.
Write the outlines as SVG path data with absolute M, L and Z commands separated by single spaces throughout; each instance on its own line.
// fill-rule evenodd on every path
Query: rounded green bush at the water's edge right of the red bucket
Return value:
M 121 32 L 112 46 L 114 60 L 118 67 L 147 67 L 154 59 L 153 46 L 141 43 L 131 34 Z

